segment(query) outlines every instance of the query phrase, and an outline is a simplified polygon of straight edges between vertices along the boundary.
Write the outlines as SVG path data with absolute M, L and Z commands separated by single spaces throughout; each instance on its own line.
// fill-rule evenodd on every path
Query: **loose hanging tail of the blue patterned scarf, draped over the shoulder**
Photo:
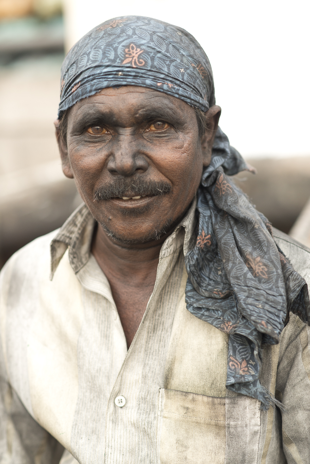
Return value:
M 229 333 L 226 387 L 266 410 L 277 401 L 259 381 L 262 345 L 278 343 L 290 311 L 308 322 L 310 304 L 270 223 L 226 175 L 243 168 L 219 129 L 198 191 L 197 243 L 185 256 L 185 301 L 194 316 Z

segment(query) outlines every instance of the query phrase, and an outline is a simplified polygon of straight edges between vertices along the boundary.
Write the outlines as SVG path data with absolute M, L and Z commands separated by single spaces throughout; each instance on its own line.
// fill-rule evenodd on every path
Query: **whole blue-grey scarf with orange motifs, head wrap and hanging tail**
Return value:
M 59 117 L 82 98 L 113 86 L 139 85 L 207 111 L 214 103 L 210 62 L 184 29 L 124 16 L 95 27 L 62 66 Z M 229 334 L 226 387 L 276 400 L 259 382 L 262 344 L 276 344 L 289 311 L 310 319 L 307 284 L 272 238 L 272 229 L 227 175 L 247 169 L 218 129 L 198 189 L 197 241 L 185 256 L 187 309 Z

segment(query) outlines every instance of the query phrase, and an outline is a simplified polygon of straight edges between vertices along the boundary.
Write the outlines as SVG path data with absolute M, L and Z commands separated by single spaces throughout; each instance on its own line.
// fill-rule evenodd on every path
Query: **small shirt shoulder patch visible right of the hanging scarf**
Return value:
M 273 227 L 273 238 L 284 255 L 289 258 L 295 271 L 305 279 L 310 288 L 310 249 L 275 227 Z

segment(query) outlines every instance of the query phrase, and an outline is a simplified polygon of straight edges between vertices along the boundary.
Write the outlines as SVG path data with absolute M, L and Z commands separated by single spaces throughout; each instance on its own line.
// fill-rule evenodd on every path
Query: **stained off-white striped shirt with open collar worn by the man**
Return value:
M 263 350 L 282 418 L 226 390 L 229 335 L 185 304 L 195 202 L 161 248 L 128 351 L 93 227 L 83 205 L 1 272 L 0 464 L 310 463 L 309 328 L 291 315 Z M 309 282 L 310 251 L 275 239 Z

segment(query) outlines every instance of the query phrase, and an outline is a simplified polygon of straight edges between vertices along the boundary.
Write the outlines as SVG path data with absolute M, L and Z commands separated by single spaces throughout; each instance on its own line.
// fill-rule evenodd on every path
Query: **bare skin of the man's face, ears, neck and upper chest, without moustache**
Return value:
M 111 285 L 128 348 L 155 285 L 161 246 L 191 205 L 210 163 L 220 112 L 214 105 L 205 114 L 207 130 L 200 137 L 190 105 L 156 90 L 124 86 L 76 103 L 66 141 L 55 123 L 63 172 L 74 178 L 98 221 L 92 253 Z M 100 187 L 138 178 L 166 182 L 171 192 L 142 197 L 128 187 L 122 198 L 94 200 Z

